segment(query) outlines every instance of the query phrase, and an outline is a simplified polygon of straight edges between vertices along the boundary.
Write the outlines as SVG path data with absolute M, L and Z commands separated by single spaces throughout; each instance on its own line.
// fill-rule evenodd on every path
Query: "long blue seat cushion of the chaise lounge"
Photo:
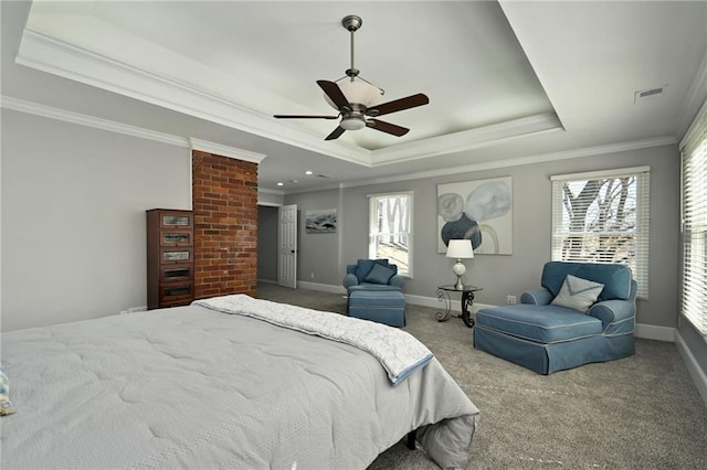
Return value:
M 602 334 L 598 318 L 557 306 L 504 306 L 478 310 L 476 324 L 539 343 Z

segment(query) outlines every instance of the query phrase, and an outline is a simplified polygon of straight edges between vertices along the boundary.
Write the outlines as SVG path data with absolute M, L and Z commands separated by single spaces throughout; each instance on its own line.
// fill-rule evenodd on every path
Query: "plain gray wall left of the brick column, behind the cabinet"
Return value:
M 187 148 L 2 110 L 2 330 L 147 305 L 145 211 L 191 209 Z

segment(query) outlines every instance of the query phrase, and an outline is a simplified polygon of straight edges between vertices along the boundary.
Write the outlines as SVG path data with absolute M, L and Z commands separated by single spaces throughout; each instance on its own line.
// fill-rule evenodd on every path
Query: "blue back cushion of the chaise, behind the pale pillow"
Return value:
M 631 297 L 631 269 L 624 265 L 602 263 L 570 263 L 549 261 L 542 268 L 541 286 L 552 292 L 560 293 L 562 284 L 568 274 L 582 279 L 603 284 L 604 290 L 599 296 L 599 301 L 622 299 Z

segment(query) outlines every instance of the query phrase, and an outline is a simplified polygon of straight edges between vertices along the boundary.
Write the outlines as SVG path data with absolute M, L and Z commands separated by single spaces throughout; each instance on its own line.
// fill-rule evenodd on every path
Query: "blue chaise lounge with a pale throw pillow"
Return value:
M 624 265 L 550 261 L 520 305 L 476 313 L 474 348 L 539 374 L 635 352 L 636 282 Z

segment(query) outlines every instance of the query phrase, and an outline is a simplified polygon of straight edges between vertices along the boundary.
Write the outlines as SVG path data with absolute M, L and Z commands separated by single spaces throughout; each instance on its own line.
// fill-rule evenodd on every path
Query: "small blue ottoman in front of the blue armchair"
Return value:
M 391 327 L 404 327 L 405 296 L 400 290 L 351 290 L 348 314 Z

